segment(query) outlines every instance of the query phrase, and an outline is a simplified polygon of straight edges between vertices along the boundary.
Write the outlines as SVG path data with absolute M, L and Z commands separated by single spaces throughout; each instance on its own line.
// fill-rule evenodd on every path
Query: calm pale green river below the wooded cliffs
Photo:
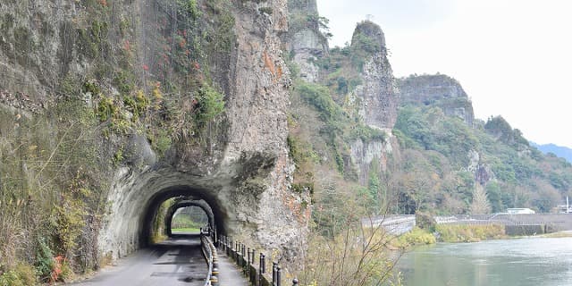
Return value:
M 406 286 L 569 286 L 572 238 L 440 243 L 400 258 Z

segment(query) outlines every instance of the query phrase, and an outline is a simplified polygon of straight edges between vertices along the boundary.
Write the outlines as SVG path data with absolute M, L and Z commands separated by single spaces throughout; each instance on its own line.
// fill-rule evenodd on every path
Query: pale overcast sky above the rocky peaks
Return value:
M 396 77 L 447 74 L 477 118 L 502 115 L 526 139 L 572 147 L 572 1 L 317 0 L 330 46 L 369 17 Z

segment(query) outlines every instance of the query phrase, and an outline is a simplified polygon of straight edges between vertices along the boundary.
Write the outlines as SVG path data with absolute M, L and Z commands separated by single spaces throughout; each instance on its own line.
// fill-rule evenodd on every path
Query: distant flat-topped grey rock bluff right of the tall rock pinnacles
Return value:
M 473 126 L 473 105 L 457 80 L 437 74 L 409 76 L 398 82 L 403 104 L 438 105 L 445 114 Z

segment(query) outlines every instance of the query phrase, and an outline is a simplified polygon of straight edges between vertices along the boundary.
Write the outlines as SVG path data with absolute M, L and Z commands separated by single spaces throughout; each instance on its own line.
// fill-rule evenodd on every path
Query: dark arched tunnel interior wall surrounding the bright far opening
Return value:
M 143 210 L 143 221 L 139 235 L 139 245 L 148 247 L 168 237 L 172 237 L 172 223 L 176 214 L 185 209 L 196 212 L 196 217 L 203 217 L 195 223 L 214 234 L 225 233 L 225 216 L 210 189 L 198 189 L 189 186 L 173 186 L 157 191 Z M 193 231 L 189 231 L 193 232 Z M 195 232 L 198 234 L 198 231 Z

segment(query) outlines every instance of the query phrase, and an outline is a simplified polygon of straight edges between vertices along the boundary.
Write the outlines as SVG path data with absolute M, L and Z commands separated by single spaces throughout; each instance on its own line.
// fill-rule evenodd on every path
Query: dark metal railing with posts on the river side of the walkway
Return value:
M 227 236 L 219 236 L 218 248 L 220 248 L 236 265 L 242 268 L 242 272 L 248 277 L 248 281 L 255 286 L 282 286 L 282 267 L 273 262 L 272 277 L 266 273 L 266 256 L 259 254 L 258 265 L 254 248 L 247 248 L 245 244 L 232 240 Z M 298 279 L 292 280 L 292 286 L 298 286 Z

